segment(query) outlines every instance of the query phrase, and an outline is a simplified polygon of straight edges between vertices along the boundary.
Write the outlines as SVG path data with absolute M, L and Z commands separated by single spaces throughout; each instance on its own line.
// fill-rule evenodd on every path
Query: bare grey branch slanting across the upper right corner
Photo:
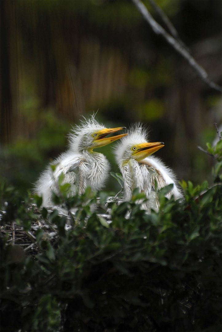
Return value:
M 197 63 L 197 61 L 189 54 L 184 46 L 182 46 L 173 36 L 168 34 L 166 30 L 154 20 L 145 5 L 140 0 L 132 0 L 132 2 L 143 15 L 144 19 L 149 23 L 155 34 L 162 35 L 166 41 L 168 41 L 168 43 L 171 44 L 188 61 L 190 66 L 196 71 L 203 82 L 205 82 L 212 89 L 221 92 L 222 88 L 218 84 L 212 82 L 208 78 L 208 74 L 205 69 Z

